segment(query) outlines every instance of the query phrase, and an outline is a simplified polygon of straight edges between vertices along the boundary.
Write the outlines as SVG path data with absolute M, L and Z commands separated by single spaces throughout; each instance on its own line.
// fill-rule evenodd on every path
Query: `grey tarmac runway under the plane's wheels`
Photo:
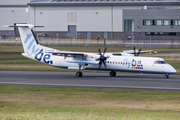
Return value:
M 156 74 L 110 77 L 109 73 L 83 72 L 83 77 L 76 77 L 75 72 L 0 71 L 0 85 L 180 91 L 180 75 L 164 79 Z

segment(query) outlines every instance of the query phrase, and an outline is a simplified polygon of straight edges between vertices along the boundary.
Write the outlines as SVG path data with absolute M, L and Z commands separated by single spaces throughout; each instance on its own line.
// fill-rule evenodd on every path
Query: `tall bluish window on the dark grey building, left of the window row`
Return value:
M 124 20 L 124 32 L 134 31 L 134 20 Z

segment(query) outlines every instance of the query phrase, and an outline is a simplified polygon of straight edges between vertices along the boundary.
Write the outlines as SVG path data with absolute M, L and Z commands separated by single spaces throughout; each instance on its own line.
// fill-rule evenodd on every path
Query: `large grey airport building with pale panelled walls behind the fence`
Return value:
M 3 25 L 30 23 L 36 34 L 59 38 L 180 38 L 180 0 L 0 0 Z

